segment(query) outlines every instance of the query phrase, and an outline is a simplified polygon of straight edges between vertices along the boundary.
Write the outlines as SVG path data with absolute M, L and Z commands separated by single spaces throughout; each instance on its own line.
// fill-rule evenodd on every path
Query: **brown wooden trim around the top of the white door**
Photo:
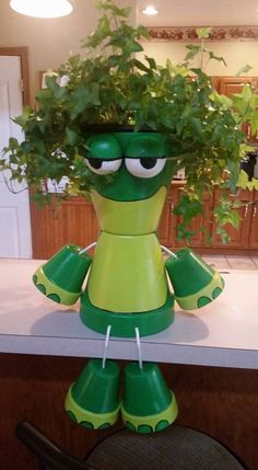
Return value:
M 0 47 L 0 56 L 16 56 L 21 58 L 21 76 L 23 105 L 30 105 L 30 73 L 28 73 L 28 48 L 27 47 Z

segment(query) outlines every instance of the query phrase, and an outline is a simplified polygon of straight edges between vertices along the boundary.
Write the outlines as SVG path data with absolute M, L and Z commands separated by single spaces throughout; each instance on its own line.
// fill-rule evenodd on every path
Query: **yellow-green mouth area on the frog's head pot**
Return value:
M 114 200 L 91 191 L 92 202 L 103 231 L 121 236 L 153 233 L 157 230 L 166 198 L 165 186 L 139 200 Z

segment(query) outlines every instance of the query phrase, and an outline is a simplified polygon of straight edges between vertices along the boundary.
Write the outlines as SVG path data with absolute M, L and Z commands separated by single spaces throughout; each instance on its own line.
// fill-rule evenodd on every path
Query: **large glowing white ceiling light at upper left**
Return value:
M 17 13 L 34 18 L 59 18 L 71 13 L 68 0 L 11 0 L 10 7 Z

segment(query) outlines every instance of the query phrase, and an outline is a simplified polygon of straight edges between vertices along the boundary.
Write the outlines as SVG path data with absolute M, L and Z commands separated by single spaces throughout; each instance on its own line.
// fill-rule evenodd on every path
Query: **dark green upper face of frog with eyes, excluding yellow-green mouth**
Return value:
M 95 191 L 113 200 L 140 200 L 171 182 L 175 162 L 155 133 L 97 134 L 87 141 L 86 165 Z

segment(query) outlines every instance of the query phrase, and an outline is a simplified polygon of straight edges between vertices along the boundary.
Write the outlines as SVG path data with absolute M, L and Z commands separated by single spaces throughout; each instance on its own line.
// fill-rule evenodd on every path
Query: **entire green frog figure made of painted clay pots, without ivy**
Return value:
M 173 323 L 175 300 L 192 310 L 223 289 L 219 273 L 189 249 L 164 261 L 156 230 L 176 168 L 169 154 L 171 144 L 157 133 L 89 135 L 85 165 L 101 227 L 94 256 L 67 245 L 34 275 L 49 299 L 69 306 L 80 298 L 82 323 L 104 335 L 155 334 Z M 175 421 L 176 399 L 156 364 L 129 363 L 124 374 L 120 397 L 118 364 L 90 359 L 68 391 L 69 415 L 85 427 L 104 428 L 121 412 L 125 425 L 140 433 Z

